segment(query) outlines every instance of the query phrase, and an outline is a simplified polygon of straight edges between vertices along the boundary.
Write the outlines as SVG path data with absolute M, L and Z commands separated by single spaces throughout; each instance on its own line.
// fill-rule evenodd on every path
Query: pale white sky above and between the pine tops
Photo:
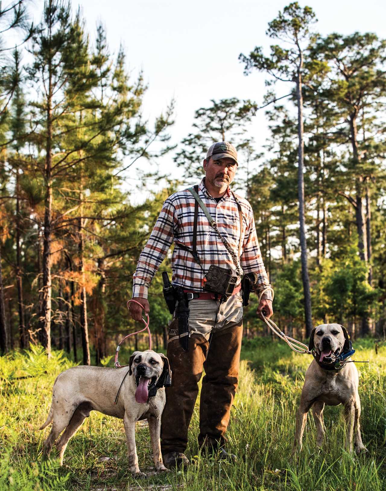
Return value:
M 262 46 L 268 54 L 271 39 L 265 31 L 268 22 L 289 1 L 247 0 L 82 0 L 86 28 L 91 42 L 98 23 L 107 31 L 112 53 L 122 43 L 135 78 L 140 70 L 149 88 L 144 98 L 143 116 L 152 121 L 172 98 L 175 99 L 175 125 L 172 142 L 178 143 L 191 131 L 194 111 L 209 107 L 211 99 L 237 97 L 261 104 L 266 91 L 264 74 L 247 77 L 239 62 L 240 53 L 249 54 Z M 386 38 L 386 2 L 367 0 L 311 0 L 317 31 L 350 34 L 376 32 Z M 34 14 L 40 17 L 42 0 L 34 0 Z M 73 0 L 74 10 L 78 3 Z M 288 85 L 277 86 L 277 94 L 289 92 Z M 257 151 L 263 151 L 268 136 L 264 110 L 258 111 L 249 128 Z M 173 154 L 162 161 L 160 170 L 181 178 Z M 203 156 L 204 158 L 205 156 Z M 138 166 L 149 169 L 145 160 Z M 133 175 L 131 173 L 131 175 Z

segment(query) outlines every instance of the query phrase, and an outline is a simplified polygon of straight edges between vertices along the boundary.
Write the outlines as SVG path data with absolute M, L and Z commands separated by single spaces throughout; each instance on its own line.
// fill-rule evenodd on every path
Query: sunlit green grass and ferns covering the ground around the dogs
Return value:
M 315 446 L 315 428 L 308 418 L 303 451 L 290 453 L 295 412 L 309 355 L 298 355 L 281 341 L 245 341 L 240 384 L 228 428 L 228 449 L 237 464 L 201 457 L 198 403 L 190 431 L 186 471 L 151 475 L 148 430 L 137 426 L 139 467 L 150 475 L 135 481 L 127 472 L 126 442 L 121 420 L 91 412 L 70 440 L 64 466 L 42 462 L 42 442 L 49 428 L 39 432 L 51 405 L 56 375 L 72 365 L 60 352 L 47 361 L 39 350 L 0 358 L 0 490 L 320 490 L 369 491 L 386 489 L 386 347 L 379 354 L 372 340 L 354 343 L 362 404 L 362 439 L 368 452 L 349 455 L 342 448 L 342 407 L 325 409 L 326 441 Z M 121 363 L 126 355 L 121 355 Z M 110 362 L 111 364 L 111 362 Z M 19 377 L 29 377 L 20 379 Z

